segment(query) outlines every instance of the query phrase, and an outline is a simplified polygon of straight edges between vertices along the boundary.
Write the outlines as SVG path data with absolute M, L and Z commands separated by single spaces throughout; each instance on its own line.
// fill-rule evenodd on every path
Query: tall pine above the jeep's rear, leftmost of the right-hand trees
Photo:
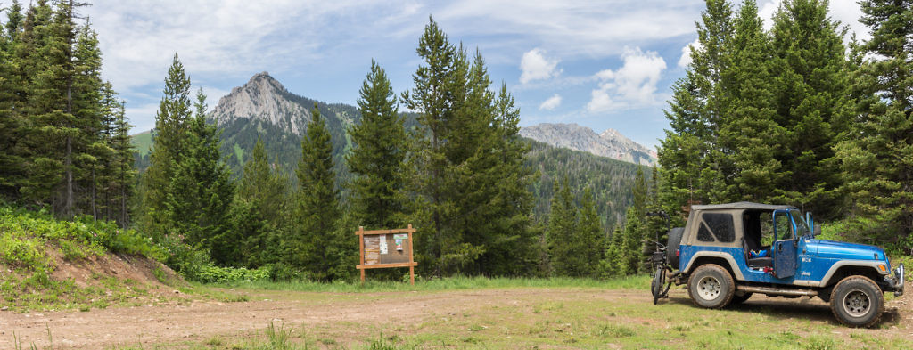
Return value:
M 673 85 L 666 110 L 671 130 L 660 141 L 666 210 L 691 203 L 729 201 L 733 171 L 729 149 L 719 144 L 719 126 L 727 112 L 722 98 L 727 53 L 732 39 L 732 7 L 726 0 L 707 0 L 698 23 L 698 47 L 690 47 L 687 75 Z

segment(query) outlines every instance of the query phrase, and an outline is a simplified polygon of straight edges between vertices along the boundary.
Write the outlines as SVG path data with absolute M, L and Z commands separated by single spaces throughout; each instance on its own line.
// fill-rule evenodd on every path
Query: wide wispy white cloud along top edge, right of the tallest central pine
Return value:
M 694 32 L 694 18 L 704 9 L 703 2 L 667 0 L 463 0 L 448 4 L 435 12 L 435 18 L 459 23 L 460 36 L 527 38 L 564 59 L 614 56 L 624 46 L 688 35 Z

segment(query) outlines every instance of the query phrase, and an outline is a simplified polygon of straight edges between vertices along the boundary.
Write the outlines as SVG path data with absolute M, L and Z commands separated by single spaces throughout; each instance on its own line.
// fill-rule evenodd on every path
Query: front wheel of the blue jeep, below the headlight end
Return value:
M 868 327 L 878 322 L 884 296 L 878 285 L 866 276 L 849 276 L 834 286 L 831 293 L 831 312 L 842 324 Z

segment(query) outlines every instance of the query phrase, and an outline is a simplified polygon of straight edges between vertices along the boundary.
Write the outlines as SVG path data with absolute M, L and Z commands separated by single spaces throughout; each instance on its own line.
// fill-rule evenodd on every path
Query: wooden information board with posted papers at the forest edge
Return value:
M 361 262 L 355 268 L 362 272 L 364 283 L 365 269 L 383 269 L 387 267 L 408 267 L 409 283 L 415 285 L 415 266 L 418 262 L 412 255 L 412 224 L 406 229 L 364 231 L 359 226 L 358 245 Z

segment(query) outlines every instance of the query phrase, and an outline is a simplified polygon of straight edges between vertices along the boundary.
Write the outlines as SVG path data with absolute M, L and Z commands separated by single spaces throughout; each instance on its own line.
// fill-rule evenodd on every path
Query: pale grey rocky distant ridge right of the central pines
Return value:
M 614 129 L 607 129 L 602 134 L 596 134 L 593 129 L 574 123 L 542 123 L 522 128 L 519 130 L 519 134 L 554 147 L 582 150 L 597 156 L 640 165 L 656 165 L 655 151 L 624 137 Z

